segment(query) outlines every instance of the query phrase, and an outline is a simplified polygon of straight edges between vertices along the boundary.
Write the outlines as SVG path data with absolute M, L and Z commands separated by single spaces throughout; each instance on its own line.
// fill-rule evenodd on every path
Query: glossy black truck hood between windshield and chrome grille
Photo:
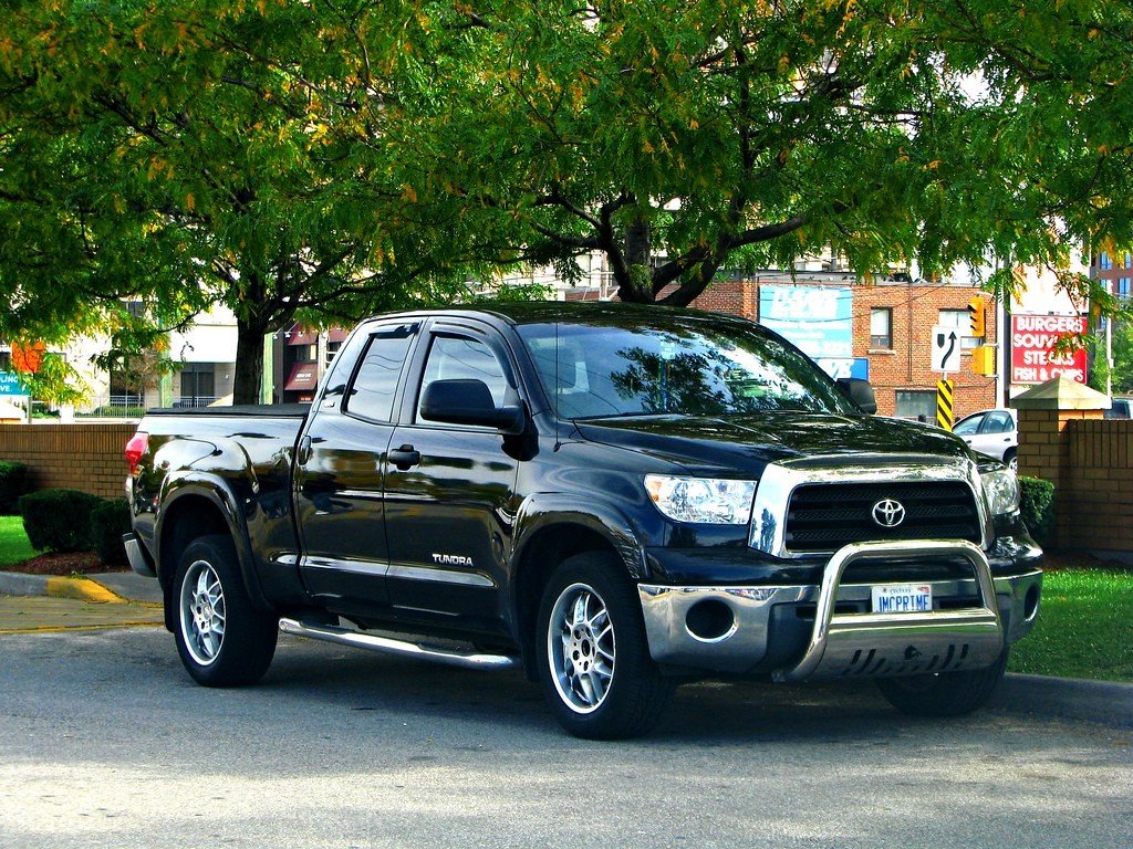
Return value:
M 758 475 L 768 463 L 850 454 L 968 457 L 964 443 L 918 422 L 871 415 L 773 412 L 586 419 L 583 439 L 697 470 Z

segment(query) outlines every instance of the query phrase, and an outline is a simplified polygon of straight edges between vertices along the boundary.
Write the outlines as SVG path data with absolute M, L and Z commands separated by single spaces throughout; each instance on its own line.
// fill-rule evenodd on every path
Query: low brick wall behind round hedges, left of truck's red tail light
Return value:
M 24 463 L 33 489 L 82 489 L 103 498 L 125 495 L 122 449 L 135 422 L 0 426 L 0 460 Z

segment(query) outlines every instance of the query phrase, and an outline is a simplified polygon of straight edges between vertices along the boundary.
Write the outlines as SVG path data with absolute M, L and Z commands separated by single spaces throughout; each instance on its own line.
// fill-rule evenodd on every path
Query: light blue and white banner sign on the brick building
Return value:
M 759 324 L 834 377 L 849 377 L 855 369 L 852 306 L 853 291 L 845 286 L 759 286 Z

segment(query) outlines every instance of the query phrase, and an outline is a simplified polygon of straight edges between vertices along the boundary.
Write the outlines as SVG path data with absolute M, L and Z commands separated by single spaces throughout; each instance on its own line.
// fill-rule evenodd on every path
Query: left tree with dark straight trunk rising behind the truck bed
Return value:
M 323 123 L 347 74 L 320 15 L 338 12 L 258 7 L 20 5 L 18 41 L 0 42 L 0 229 L 18 237 L 0 280 L 34 315 L 10 326 L 66 332 L 94 298 L 148 302 L 159 326 L 224 303 L 240 403 L 258 396 L 264 334 L 444 289 L 419 250 L 432 234 L 387 231 L 381 174 Z

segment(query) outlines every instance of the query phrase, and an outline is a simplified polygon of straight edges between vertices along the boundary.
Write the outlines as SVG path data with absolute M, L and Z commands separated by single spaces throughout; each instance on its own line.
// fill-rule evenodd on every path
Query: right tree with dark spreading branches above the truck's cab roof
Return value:
M 568 271 L 597 250 L 622 300 L 681 306 L 727 264 L 827 246 L 868 280 L 1062 267 L 1127 233 L 1131 18 L 1119 0 L 383 3 L 356 65 L 389 80 L 360 101 L 393 182 L 475 222 L 472 249 Z

